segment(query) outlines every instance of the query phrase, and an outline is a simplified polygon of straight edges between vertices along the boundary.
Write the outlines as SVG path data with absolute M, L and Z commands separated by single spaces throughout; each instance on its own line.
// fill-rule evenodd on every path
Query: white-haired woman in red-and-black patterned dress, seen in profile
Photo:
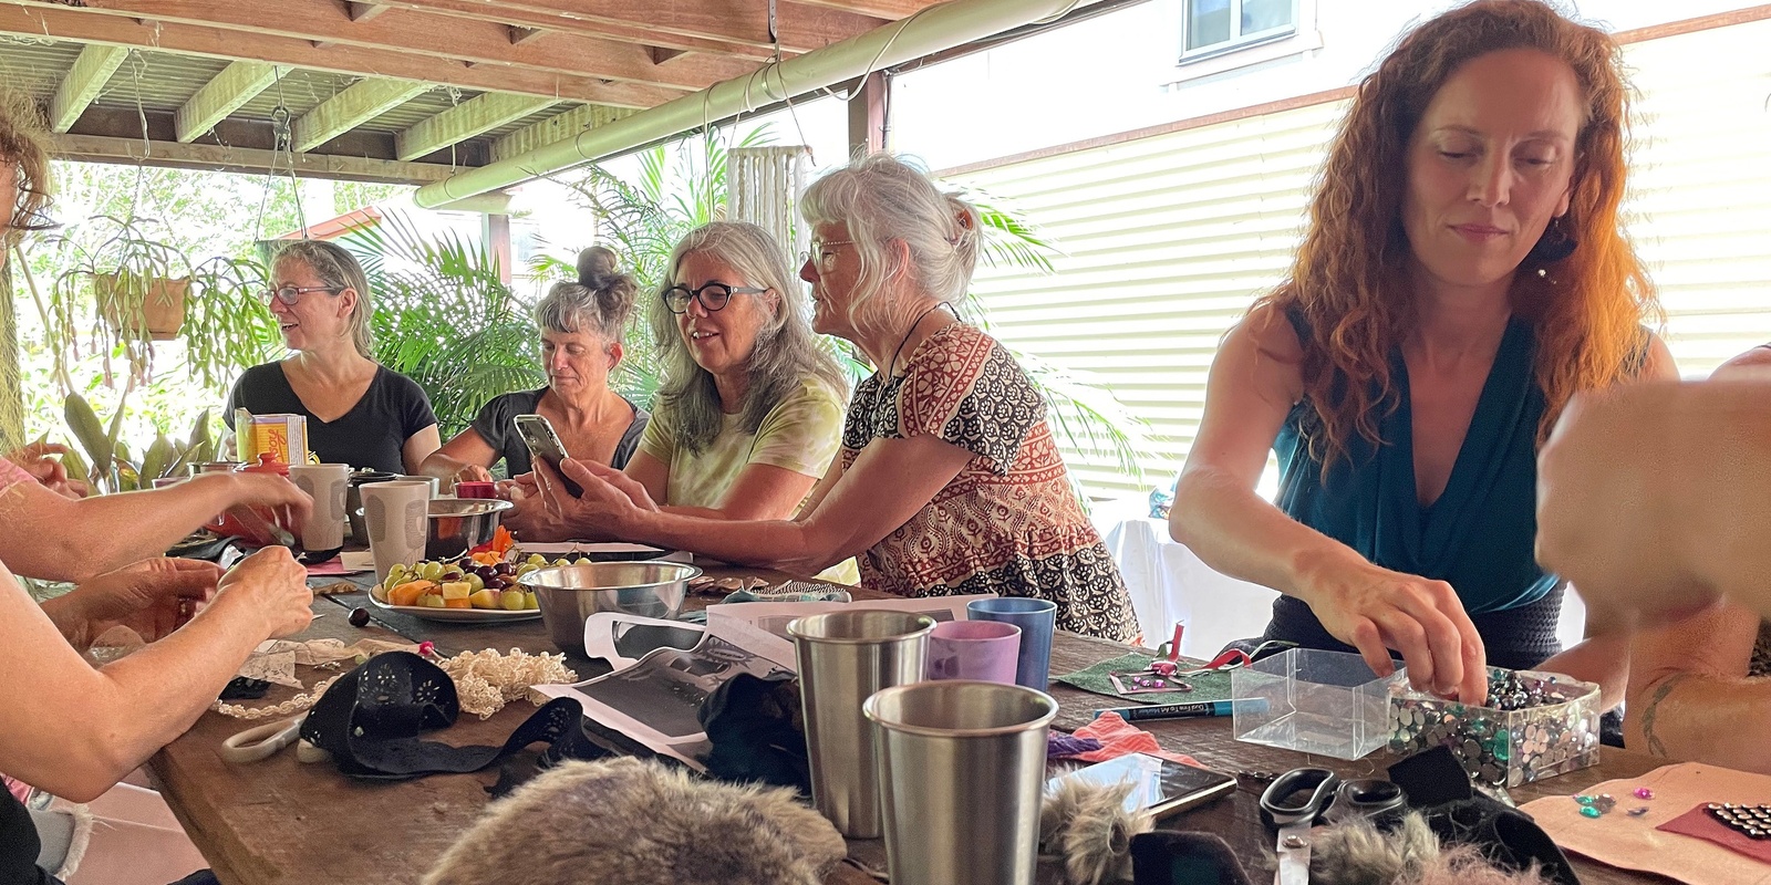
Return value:
M 563 462 L 549 492 L 570 529 L 811 573 L 859 556 L 861 582 L 905 596 L 1001 593 L 1057 604 L 1057 627 L 1137 637 L 1125 582 L 1082 513 L 1013 356 L 958 320 L 978 209 L 893 156 L 831 172 L 800 202 L 813 327 L 878 368 L 848 405 L 841 453 L 793 520 L 712 522 L 659 508 L 643 483 Z M 553 476 L 549 476 L 553 480 Z

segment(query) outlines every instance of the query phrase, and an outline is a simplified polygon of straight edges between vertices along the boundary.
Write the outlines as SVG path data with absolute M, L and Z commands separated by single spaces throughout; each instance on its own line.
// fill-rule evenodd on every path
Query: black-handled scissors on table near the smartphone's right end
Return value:
M 1311 827 L 1316 821 L 1381 818 L 1406 805 L 1403 788 L 1388 781 L 1341 781 L 1326 768 L 1295 768 L 1279 775 L 1261 793 L 1261 818 L 1279 832 L 1273 885 L 1309 885 Z

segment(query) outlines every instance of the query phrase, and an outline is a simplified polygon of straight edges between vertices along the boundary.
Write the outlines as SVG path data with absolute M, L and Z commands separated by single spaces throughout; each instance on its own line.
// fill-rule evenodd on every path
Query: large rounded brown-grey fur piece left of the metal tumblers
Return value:
M 843 837 L 788 789 L 639 759 L 567 763 L 492 804 L 425 885 L 818 885 Z

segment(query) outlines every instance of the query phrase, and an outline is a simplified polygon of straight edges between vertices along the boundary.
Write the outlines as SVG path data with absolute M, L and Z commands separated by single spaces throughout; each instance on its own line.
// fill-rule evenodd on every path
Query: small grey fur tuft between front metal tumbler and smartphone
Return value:
M 1068 885 L 1132 878 L 1132 837 L 1155 825 L 1148 811 L 1130 814 L 1132 784 L 1094 786 L 1061 781 L 1040 807 L 1040 844 L 1064 867 Z

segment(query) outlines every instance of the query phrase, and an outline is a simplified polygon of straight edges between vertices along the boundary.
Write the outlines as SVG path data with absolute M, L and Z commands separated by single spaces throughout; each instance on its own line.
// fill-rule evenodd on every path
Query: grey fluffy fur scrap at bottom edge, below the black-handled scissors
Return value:
M 1537 869 L 1509 873 L 1475 846 L 1440 846 L 1419 812 L 1396 832 L 1371 821 L 1316 830 L 1311 844 L 1311 885 L 1550 885 Z

